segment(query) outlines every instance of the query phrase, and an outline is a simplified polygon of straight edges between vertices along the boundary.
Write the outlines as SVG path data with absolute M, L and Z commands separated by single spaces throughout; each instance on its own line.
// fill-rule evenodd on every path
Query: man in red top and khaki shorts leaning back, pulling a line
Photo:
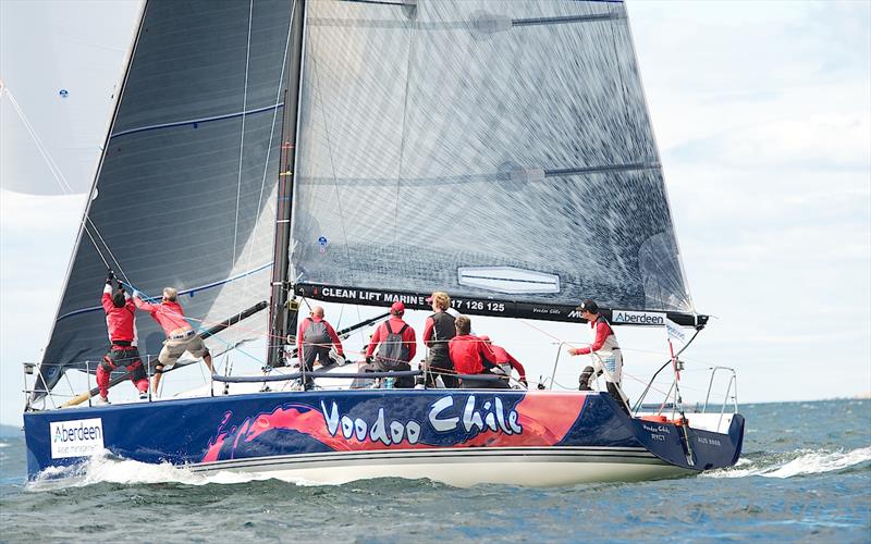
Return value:
M 167 339 L 163 341 L 163 348 L 157 356 L 157 367 L 155 368 L 155 379 L 151 391 L 158 395 L 158 385 L 164 370 L 169 370 L 175 361 L 185 353 L 189 353 L 194 358 L 203 358 L 209 372 L 214 373 L 211 364 L 211 354 L 203 343 L 196 331 L 191 326 L 184 317 L 182 305 L 179 304 L 179 292 L 173 287 L 163 288 L 163 298 L 159 305 L 152 305 L 142 299 L 138 292 L 133 293 L 133 300 L 136 308 L 147 311 L 155 321 L 163 329 Z

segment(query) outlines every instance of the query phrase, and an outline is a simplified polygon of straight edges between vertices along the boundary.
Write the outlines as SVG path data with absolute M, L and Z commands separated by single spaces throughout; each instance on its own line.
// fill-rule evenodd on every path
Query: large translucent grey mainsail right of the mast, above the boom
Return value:
M 311 1 L 304 52 L 298 293 L 695 313 L 622 2 Z

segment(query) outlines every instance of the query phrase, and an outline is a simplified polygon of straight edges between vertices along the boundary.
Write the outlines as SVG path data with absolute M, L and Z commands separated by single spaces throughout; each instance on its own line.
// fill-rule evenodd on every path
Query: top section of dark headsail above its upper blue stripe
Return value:
M 148 2 L 113 133 L 274 106 L 289 5 L 254 2 L 248 48 L 248 2 Z

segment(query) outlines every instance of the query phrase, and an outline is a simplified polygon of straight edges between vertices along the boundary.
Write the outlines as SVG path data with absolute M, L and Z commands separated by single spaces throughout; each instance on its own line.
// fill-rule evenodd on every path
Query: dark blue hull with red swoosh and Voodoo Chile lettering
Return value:
M 680 429 L 630 419 L 606 394 L 538 391 L 260 393 L 28 412 L 24 420 L 32 480 L 108 450 L 197 471 L 324 483 L 398 475 L 559 485 L 727 467 L 744 436 L 738 415 L 728 433 L 688 429 L 688 458 Z

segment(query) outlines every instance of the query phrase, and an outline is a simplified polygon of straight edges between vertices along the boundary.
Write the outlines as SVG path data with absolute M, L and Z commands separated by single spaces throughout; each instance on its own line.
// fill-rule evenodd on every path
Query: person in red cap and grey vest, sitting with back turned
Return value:
M 403 320 L 405 305 L 402 301 L 393 302 L 390 307 L 390 319 L 376 329 L 369 347 L 366 348 L 366 360 L 371 360 L 376 346 L 379 344 L 376 356 L 376 370 L 390 372 L 395 370 L 412 370 L 409 361 L 417 353 L 417 338 L 415 330 Z M 414 387 L 415 381 L 410 376 L 397 378 L 396 387 Z

